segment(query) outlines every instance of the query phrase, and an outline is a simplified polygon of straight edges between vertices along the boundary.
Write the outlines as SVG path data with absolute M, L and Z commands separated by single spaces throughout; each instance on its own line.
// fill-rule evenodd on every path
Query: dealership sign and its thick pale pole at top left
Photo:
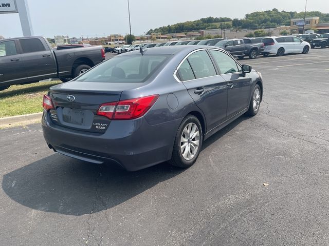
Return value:
M 19 13 L 23 36 L 33 36 L 27 0 L 0 0 L 0 14 Z

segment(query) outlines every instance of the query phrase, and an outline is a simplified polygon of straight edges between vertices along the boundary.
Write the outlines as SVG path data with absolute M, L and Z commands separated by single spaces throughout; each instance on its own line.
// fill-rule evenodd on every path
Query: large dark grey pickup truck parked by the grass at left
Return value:
M 42 36 L 0 40 L 0 90 L 47 78 L 68 81 L 101 63 L 101 46 L 52 49 Z

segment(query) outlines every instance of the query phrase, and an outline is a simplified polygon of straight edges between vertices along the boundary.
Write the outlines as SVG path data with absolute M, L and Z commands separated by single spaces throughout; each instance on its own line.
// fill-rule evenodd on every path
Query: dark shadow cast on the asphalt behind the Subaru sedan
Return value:
M 34 210 L 84 215 L 115 207 L 183 171 L 164 162 L 126 172 L 53 154 L 4 175 L 2 188 Z

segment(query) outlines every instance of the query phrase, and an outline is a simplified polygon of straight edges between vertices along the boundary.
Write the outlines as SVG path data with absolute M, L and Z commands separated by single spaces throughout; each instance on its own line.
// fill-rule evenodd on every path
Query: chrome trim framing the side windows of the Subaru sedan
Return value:
M 176 73 L 178 73 L 178 69 L 180 68 L 180 66 L 182 65 L 182 63 L 184 63 L 184 61 L 193 53 L 197 52 L 197 51 L 200 51 L 200 50 L 206 50 L 208 55 L 210 56 L 210 59 L 211 59 L 211 62 L 213 63 L 213 66 L 216 70 L 216 75 L 213 75 L 213 76 L 209 76 L 209 77 L 203 77 L 203 78 L 195 78 L 195 79 L 190 79 L 190 80 L 185 80 L 185 81 L 181 81 L 177 76 L 176 76 Z M 218 68 L 217 64 L 214 63 L 214 58 L 212 57 L 212 55 L 210 54 L 209 50 L 215 50 L 215 51 L 220 51 L 220 52 L 223 52 L 227 55 L 229 55 L 231 58 L 233 58 L 235 60 L 235 63 L 236 65 L 242 69 L 242 65 L 239 63 L 239 61 L 237 61 L 234 56 L 232 56 L 230 53 L 222 50 L 222 49 L 214 49 L 214 48 L 200 48 L 200 49 L 197 49 L 197 50 L 193 50 L 191 51 L 189 54 L 187 54 L 181 61 L 180 63 L 178 64 L 177 68 L 175 69 L 174 71 L 174 78 L 175 80 L 178 82 L 178 83 L 186 83 L 186 82 L 190 82 L 190 81 L 194 81 L 194 80 L 198 80 L 198 79 L 204 79 L 204 78 L 212 78 L 212 77 L 216 77 L 216 76 L 222 76 L 222 75 L 227 75 L 227 74 L 242 74 L 242 72 L 235 72 L 235 73 L 222 73 L 221 70 Z M 191 66 L 191 65 L 190 65 Z M 194 74 L 194 72 L 193 72 Z M 195 76 L 195 75 L 194 75 Z

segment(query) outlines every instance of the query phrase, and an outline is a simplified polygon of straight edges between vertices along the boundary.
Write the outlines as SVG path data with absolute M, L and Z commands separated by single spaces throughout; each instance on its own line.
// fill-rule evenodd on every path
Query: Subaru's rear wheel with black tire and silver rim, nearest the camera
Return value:
M 194 115 L 187 115 L 177 130 L 170 164 L 180 168 L 191 167 L 199 156 L 202 142 L 200 121 Z

